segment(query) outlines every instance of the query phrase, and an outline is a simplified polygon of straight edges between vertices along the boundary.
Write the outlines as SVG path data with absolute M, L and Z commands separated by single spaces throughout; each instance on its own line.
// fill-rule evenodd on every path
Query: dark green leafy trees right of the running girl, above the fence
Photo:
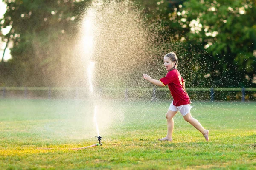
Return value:
M 207 52 L 208 81 L 220 87 L 255 86 L 252 83 L 256 76 L 255 2 L 190 0 L 184 6 L 186 20 L 199 21 L 197 26 L 190 26 L 195 31 L 187 34 L 186 42 Z

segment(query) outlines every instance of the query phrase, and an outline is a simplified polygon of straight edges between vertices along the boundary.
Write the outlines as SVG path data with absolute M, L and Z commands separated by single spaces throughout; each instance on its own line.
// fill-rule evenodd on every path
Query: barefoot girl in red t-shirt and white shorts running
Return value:
M 166 137 L 158 140 L 172 141 L 172 132 L 174 127 L 173 117 L 178 111 L 180 111 L 183 118 L 191 125 L 193 125 L 197 130 L 199 130 L 204 135 L 205 139 L 209 141 L 209 131 L 204 129 L 198 120 L 191 116 L 190 109 L 192 107 L 189 105 L 191 101 L 189 95 L 185 91 L 184 79 L 181 77 L 179 71 L 177 70 L 178 60 L 176 54 L 174 52 L 166 54 L 163 58 L 163 62 L 166 70 L 168 71 L 166 77 L 163 77 L 160 80 L 156 80 L 152 79 L 147 74 L 143 74 L 143 78 L 153 83 L 154 85 L 161 87 L 168 85 L 173 97 L 173 101 L 166 113 L 167 135 Z

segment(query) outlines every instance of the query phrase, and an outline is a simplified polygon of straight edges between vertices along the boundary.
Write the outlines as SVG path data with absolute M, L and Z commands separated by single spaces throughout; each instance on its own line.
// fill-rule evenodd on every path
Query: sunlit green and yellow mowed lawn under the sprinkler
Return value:
M 160 142 L 169 104 L 0 99 L 0 169 L 256 169 L 256 102 L 192 101 L 210 141 L 177 113 Z M 95 111 L 103 145 L 71 150 L 98 142 Z

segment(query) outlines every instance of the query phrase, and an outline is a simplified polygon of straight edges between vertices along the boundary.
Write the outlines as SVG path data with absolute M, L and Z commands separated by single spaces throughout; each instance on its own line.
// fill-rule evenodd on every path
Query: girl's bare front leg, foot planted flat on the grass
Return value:
M 167 113 L 166 113 L 167 135 L 166 135 L 166 137 L 164 137 L 162 139 L 158 139 L 158 140 L 160 140 L 160 141 L 172 141 L 172 132 L 173 132 L 173 127 L 174 127 L 173 117 L 175 116 L 176 113 L 177 113 L 177 111 L 171 111 L 171 110 L 167 111 Z

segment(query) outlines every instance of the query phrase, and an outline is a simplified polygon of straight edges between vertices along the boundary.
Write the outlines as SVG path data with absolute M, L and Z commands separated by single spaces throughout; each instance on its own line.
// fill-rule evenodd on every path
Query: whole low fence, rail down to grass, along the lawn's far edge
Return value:
M 168 88 L 95 88 L 99 96 L 119 99 L 170 99 Z M 190 98 L 200 100 L 256 100 L 256 88 L 186 88 Z M 0 87 L 1 98 L 88 98 L 89 89 L 76 87 Z

